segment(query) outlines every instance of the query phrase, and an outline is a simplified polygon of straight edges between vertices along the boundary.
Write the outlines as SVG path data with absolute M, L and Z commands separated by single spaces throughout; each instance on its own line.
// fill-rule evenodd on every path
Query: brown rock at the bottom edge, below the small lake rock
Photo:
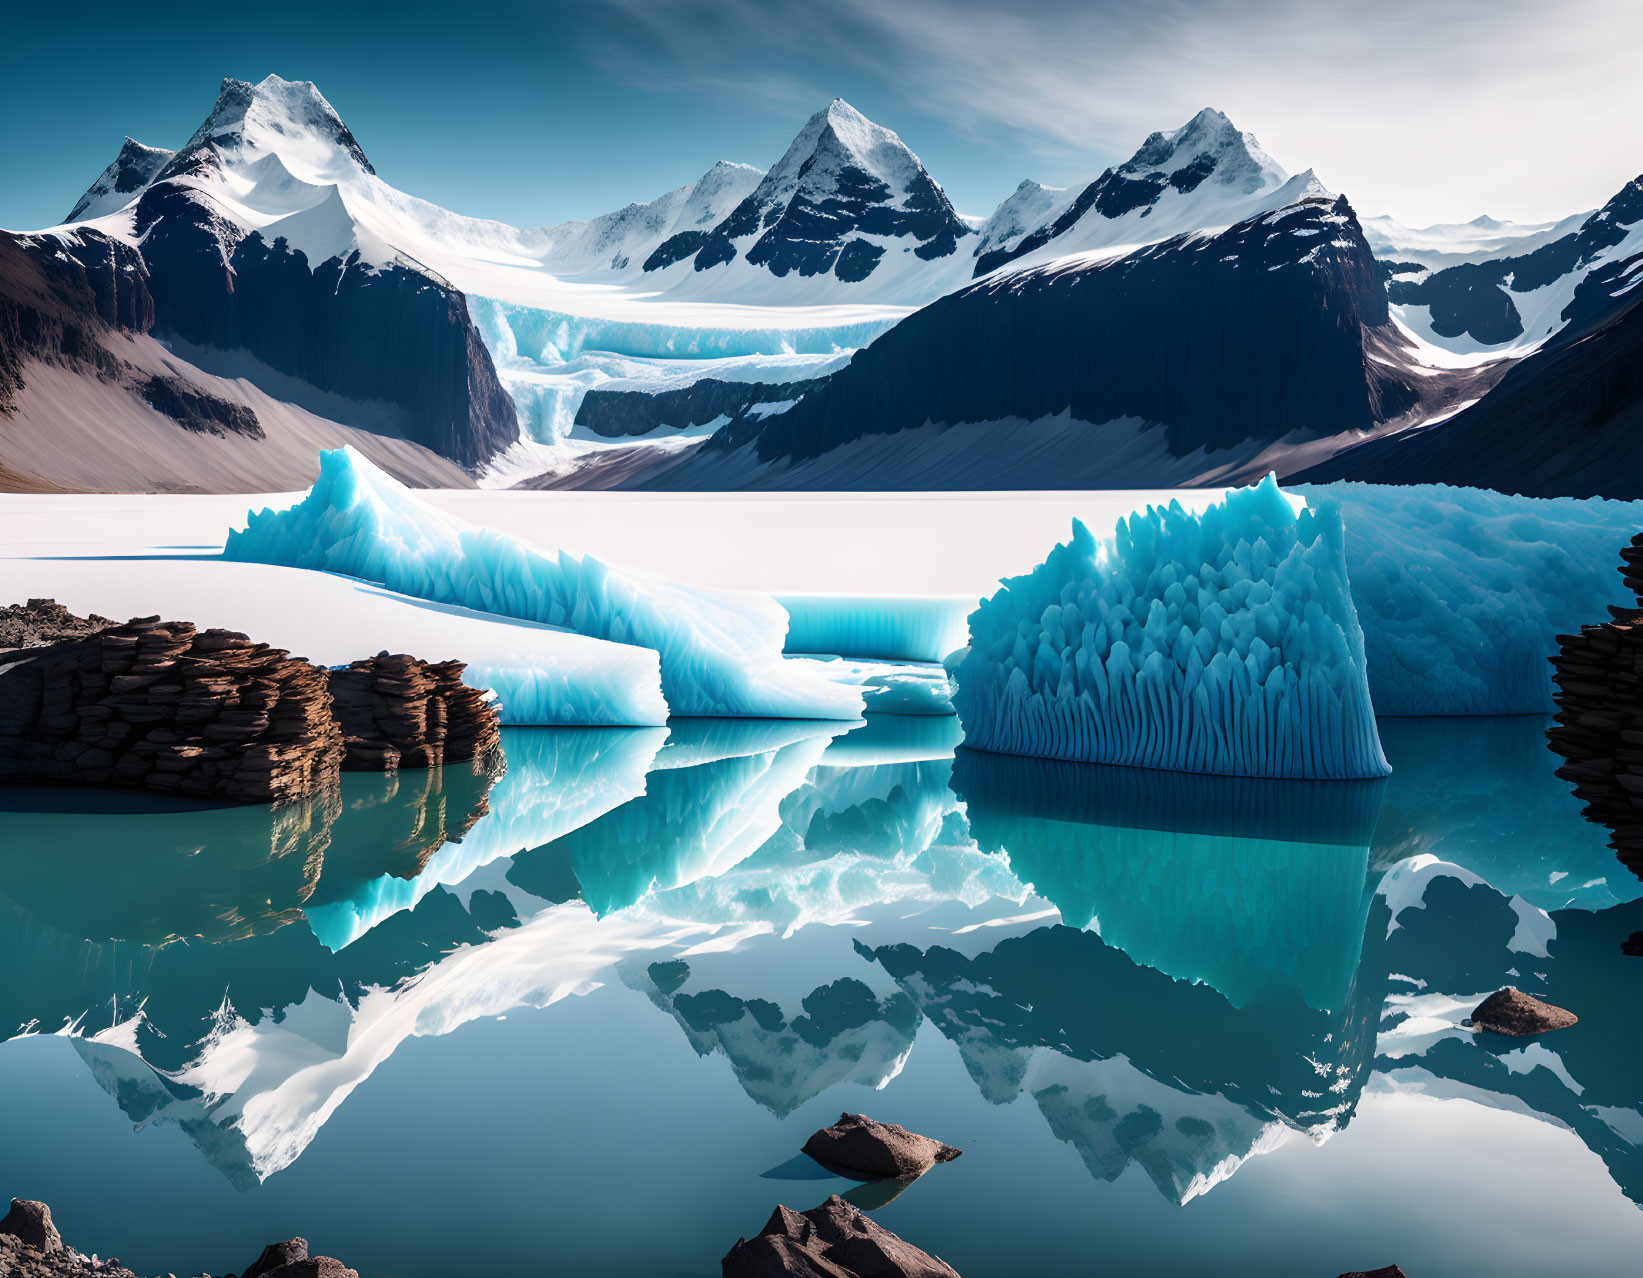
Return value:
M 838 1194 L 800 1214 L 777 1207 L 752 1239 L 738 1239 L 725 1278 L 958 1278 Z

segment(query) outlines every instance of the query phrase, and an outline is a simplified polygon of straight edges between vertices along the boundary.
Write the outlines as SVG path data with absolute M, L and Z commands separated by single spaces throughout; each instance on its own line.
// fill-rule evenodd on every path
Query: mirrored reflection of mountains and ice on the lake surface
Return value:
M 509 729 L 503 765 L 274 810 L 13 792 L 0 1030 L 69 1035 L 246 1191 L 409 1038 L 614 984 L 775 1119 L 950 1043 L 953 1106 L 1170 1202 L 1370 1092 L 1533 1114 L 1643 1202 L 1643 885 L 1543 729 L 1390 721 L 1393 775 L 1347 784 L 955 756 L 950 719 L 876 718 Z M 1581 1020 L 1484 1041 L 1459 1022 L 1502 984 Z

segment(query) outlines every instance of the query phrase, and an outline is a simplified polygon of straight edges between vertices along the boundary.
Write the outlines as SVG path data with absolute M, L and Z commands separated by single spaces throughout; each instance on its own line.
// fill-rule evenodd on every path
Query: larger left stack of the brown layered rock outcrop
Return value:
M 325 672 L 233 631 L 135 618 L 0 672 L 0 782 L 279 803 L 334 785 Z

